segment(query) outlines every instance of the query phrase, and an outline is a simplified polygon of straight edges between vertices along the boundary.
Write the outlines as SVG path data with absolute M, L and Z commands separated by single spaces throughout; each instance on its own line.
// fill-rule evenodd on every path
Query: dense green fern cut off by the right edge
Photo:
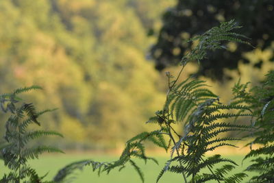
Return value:
M 251 178 L 252 182 L 274 182 L 274 72 L 266 75 L 261 87 L 253 88 L 251 103 L 256 119 L 252 125 L 256 131 L 252 132 L 254 140 L 249 143 L 256 144 L 258 149 L 251 149 L 246 158 L 253 158 L 247 171 L 258 171 L 260 175 Z

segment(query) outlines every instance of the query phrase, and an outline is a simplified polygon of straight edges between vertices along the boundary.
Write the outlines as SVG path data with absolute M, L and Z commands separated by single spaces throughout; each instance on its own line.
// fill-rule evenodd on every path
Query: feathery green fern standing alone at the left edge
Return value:
M 18 98 L 18 94 L 26 93 L 29 90 L 41 89 L 39 86 L 18 88 L 13 93 L 0 95 L 1 110 L 10 112 L 10 117 L 5 122 L 6 143 L 1 147 L 2 158 L 10 173 L 5 174 L 0 182 L 42 182 L 36 170 L 29 167 L 27 161 L 38 158 L 44 152 L 62 152 L 55 147 L 39 145 L 29 147 L 32 140 L 41 136 L 61 136 L 58 132 L 44 130 L 28 130 L 29 125 L 40 125 L 38 117 L 45 112 L 37 112 L 32 103 L 25 103 Z

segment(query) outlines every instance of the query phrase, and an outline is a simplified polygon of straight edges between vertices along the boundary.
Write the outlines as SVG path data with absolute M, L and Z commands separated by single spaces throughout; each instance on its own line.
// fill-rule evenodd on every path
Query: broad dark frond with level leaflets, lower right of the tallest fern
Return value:
M 232 177 L 225 177 L 228 171 L 237 165 L 236 162 L 227 158 L 221 158 L 220 155 L 214 155 L 206 158 L 205 154 L 208 151 L 213 151 L 217 147 L 232 146 L 229 141 L 240 141 L 240 138 L 219 137 L 219 134 L 232 131 L 246 131 L 249 126 L 236 125 L 234 123 L 227 123 L 225 119 L 232 119 L 234 117 L 251 116 L 250 112 L 227 112 L 247 110 L 247 106 L 241 105 L 224 105 L 219 103 L 218 98 L 205 99 L 201 97 L 198 106 L 195 110 L 190 112 L 187 118 L 187 123 L 184 127 L 184 135 L 179 138 L 179 141 L 173 147 L 171 154 L 175 151 L 179 152 L 175 158 L 171 158 L 166 164 L 158 180 L 162 177 L 165 171 L 175 173 L 184 173 L 186 177 L 191 177 L 190 182 L 207 182 L 207 181 L 224 181 L 224 182 L 240 182 L 245 178 L 245 173 L 235 174 Z M 187 105 L 182 103 L 178 108 L 185 108 Z M 177 165 L 171 166 L 172 162 L 177 162 Z M 228 162 L 221 169 L 215 169 L 216 164 L 221 162 Z M 229 168 L 228 168 L 229 167 Z M 199 174 L 202 169 L 208 169 L 209 173 Z M 234 181 L 231 181 L 234 180 Z

